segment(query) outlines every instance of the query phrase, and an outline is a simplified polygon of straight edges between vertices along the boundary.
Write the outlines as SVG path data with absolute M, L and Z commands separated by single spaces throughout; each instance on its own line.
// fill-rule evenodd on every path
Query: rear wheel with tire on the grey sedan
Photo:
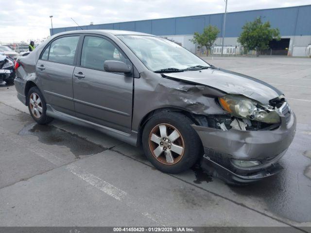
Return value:
M 46 102 L 44 100 L 42 93 L 36 86 L 33 86 L 28 91 L 27 102 L 29 113 L 33 117 L 35 122 L 43 125 L 48 124 L 53 120 L 52 117 L 47 116 Z

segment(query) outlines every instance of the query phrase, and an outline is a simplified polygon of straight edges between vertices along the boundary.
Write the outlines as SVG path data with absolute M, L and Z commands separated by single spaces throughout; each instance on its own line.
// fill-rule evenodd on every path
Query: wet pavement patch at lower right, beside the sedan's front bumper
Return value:
M 311 221 L 311 186 L 310 179 L 304 174 L 309 166 L 309 159 L 292 154 L 281 162 L 285 168 L 271 176 L 244 187 L 229 186 L 239 195 L 247 198 L 259 198 L 268 210 L 278 216 L 296 222 Z

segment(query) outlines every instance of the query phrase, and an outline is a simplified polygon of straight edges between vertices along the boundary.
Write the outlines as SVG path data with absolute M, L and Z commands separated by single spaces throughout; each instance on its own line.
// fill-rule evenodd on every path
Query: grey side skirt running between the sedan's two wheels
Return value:
M 112 128 L 109 128 L 109 127 L 106 127 L 103 125 L 96 124 L 94 122 L 90 122 L 90 121 L 80 119 L 80 118 L 75 117 L 75 116 L 70 116 L 68 114 L 58 112 L 55 109 L 53 109 L 52 106 L 49 104 L 47 104 L 47 115 L 51 116 L 53 118 L 57 118 L 60 120 L 70 122 L 72 124 L 77 124 L 77 125 L 85 126 L 88 128 L 92 128 L 94 130 L 105 133 L 111 137 L 119 139 L 122 142 L 125 142 L 125 143 L 132 145 L 132 146 L 137 147 L 138 132 L 136 132 L 136 131 L 131 131 L 131 133 L 124 133 L 124 132 L 121 132 L 119 130 L 115 130 L 115 129 L 112 129 Z

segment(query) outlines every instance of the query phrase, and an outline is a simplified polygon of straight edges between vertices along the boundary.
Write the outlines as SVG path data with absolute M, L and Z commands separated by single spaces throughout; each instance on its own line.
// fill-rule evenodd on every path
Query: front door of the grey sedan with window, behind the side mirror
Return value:
M 122 132 L 131 132 L 133 75 L 104 71 L 104 61 L 129 64 L 118 46 L 104 36 L 85 35 L 73 72 L 78 117 Z

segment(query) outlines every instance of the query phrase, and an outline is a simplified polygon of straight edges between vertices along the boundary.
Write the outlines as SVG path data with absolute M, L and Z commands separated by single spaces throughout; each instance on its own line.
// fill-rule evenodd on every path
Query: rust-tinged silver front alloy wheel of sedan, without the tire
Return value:
M 173 165 L 184 155 L 185 143 L 181 133 L 170 124 L 158 124 L 149 134 L 149 148 L 162 164 Z

